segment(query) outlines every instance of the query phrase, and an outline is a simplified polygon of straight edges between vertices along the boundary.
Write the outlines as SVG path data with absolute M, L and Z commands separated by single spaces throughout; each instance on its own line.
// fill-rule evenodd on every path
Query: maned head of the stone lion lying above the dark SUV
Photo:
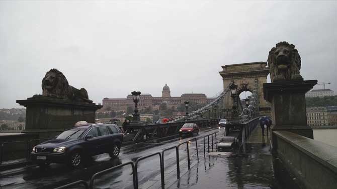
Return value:
M 57 69 L 51 69 L 42 79 L 43 96 L 63 98 L 67 96 L 68 81 Z

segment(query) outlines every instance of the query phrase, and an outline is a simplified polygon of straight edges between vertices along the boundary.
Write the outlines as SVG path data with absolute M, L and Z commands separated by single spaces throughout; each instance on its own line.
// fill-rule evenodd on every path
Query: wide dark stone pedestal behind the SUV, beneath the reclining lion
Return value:
M 95 123 L 96 110 L 102 108 L 94 103 L 82 103 L 42 95 L 17 100 L 26 110 L 26 129 L 23 133 L 38 134 L 50 138 L 71 128 L 77 121 Z

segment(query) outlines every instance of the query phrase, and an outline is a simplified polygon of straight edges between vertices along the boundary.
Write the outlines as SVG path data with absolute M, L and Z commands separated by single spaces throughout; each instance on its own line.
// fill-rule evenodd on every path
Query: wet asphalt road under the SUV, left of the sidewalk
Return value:
M 208 128 L 200 131 L 198 136 L 199 155 L 203 155 L 203 136 L 212 132 L 219 132 L 217 127 Z M 220 133 L 218 133 L 220 134 Z M 144 143 L 138 143 L 121 148 L 118 158 L 110 158 L 108 154 L 94 156 L 91 162 L 83 168 L 71 170 L 63 164 L 51 164 L 46 169 L 38 166 L 31 166 L 21 169 L 18 173 L 7 174 L 0 178 L 2 188 L 55 188 L 73 181 L 86 180 L 96 172 L 125 163 L 135 161 L 138 157 L 160 152 L 162 149 L 183 143 L 192 137 L 170 137 L 161 140 L 152 140 Z M 220 136 L 218 135 L 218 139 Z M 180 164 L 182 168 L 187 166 L 187 149 L 186 145 L 180 147 Z M 190 143 L 191 161 L 195 161 L 196 146 L 195 142 Z M 165 151 L 165 174 L 176 171 L 176 153 L 175 150 Z M 193 162 L 192 162 L 193 163 Z M 152 184 L 160 182 L 159 157 L 153 156 L 144 159 L 138 165 L 139 188 L 148 188 Z M 99 176 L 94 182 L 94 188 L 133 188 L 131 166 L 124 166 L 111 173 Z M 181 174 L 183 171 L 181 172 Z M 173 178 L 173 181 L 175 179 Z M 78 187 L 81 188 L 81 187 Z

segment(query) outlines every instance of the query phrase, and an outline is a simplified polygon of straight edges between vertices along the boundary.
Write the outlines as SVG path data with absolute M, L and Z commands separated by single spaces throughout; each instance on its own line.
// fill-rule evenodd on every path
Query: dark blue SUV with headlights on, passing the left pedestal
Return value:
M 94 155 L 109 153 L 111 157 L 117 157 L 122 142 L 123 132 L 115 124 L 80 125 L 34 146 L 31 159 L 41 167 L 66 163 L 75 168 Z

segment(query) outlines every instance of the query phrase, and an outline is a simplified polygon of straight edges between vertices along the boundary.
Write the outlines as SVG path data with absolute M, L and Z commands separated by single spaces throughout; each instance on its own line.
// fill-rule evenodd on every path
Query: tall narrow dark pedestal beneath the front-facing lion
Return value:
M 305 93 L 317 84 L 317 80 L 282 81 L 265 83 L 264 98 L 271 103 L 273 130 L 286 130 L 312 138 L 307 125 Z

